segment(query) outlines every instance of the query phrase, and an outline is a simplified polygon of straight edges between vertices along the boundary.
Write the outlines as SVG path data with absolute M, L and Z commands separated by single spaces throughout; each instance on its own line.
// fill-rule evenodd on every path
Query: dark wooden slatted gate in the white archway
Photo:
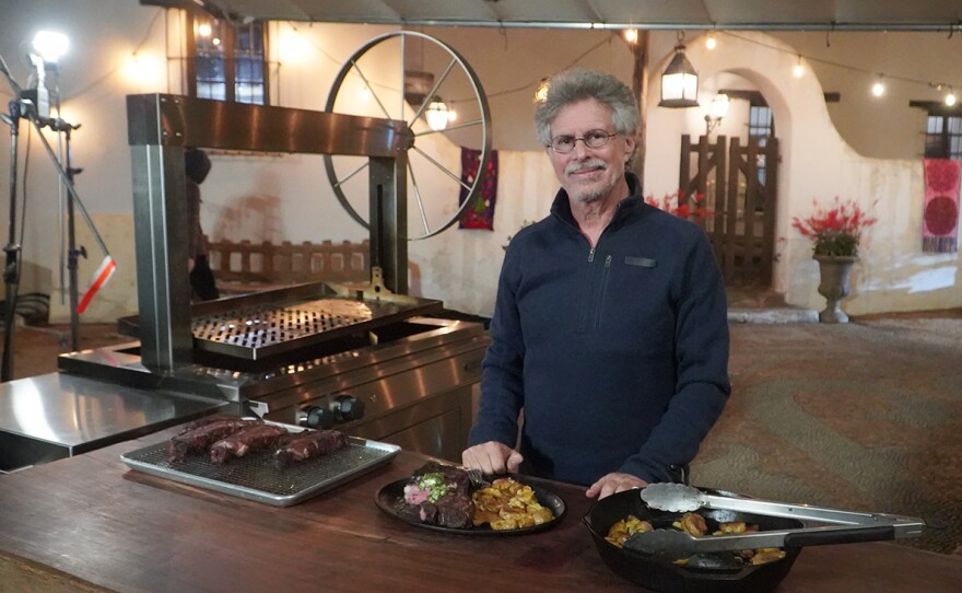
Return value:
M 725 283 L 772 286 L 775 214 L 778 204 L 778 140 L 749 138 L 748 146 L 725 136 L 697 144 L 681 137 L 679 188 L 684 196 L 704 196 L 712 216 L 700 222 L 712 240 Z

